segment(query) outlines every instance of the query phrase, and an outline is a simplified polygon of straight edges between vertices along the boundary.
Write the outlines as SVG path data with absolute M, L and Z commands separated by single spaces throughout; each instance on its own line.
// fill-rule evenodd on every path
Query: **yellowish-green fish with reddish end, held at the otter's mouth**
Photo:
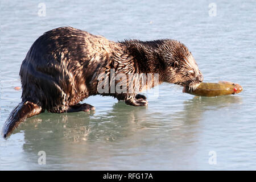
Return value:
M 191 89 L 188 86 L 184 86 L 182 92 L 192 94 L 194 96 L 203 97 L 216 97 L 225 96 L 230 94 L 237 94 L 242 92 L 243 88 L 239 84 L 234 84 L 229 81 L 214 82 L 201 82 L 196 89 Z

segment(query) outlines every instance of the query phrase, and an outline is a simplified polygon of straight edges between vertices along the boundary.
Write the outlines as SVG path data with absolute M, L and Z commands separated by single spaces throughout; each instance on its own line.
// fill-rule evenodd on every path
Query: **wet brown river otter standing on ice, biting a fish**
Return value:
M 136 92 L 98 92 L 98 75 L 105 73 L 110 77 L 111 69 L 115 69 L 114 75 L 125 76 L 157 73 L 158 82 L 152 86 L 169 82 L 196 88 L 203 81 L 191 52 L 176 40 L 113 42 L 72 27 L 56 28 L 40 36 L 22 62 L 19 73 L 22 102 L 7 118 L 3 137 L 26 118 L 44 110 L 52 113 L 94 110 L 92 105 L 79 102 L 96 94 L 125 100 L 128 105 L 146 106 L 146 97 Z

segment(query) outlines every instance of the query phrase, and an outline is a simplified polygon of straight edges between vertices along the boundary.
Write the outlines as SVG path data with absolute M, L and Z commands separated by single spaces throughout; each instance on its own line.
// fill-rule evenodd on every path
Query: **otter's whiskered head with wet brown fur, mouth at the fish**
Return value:
M 165 65 L 163 80 L 196 89 L 204 78 L 188 48 L 176 40 L 165 40 L 161 47 Z

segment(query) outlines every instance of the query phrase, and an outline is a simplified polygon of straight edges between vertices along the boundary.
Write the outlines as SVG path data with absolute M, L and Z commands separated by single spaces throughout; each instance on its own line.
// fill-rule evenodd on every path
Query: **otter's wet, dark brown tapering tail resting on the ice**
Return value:
M 3 125 L 3 137 L 8 137 L 13 132 L 13 130 L 19 126 L 21 122 L 25 121 L 26 118 L 30 118 L 33 115 L 40 114 L 41 111 L 42 107 L 30 101 L 20 102 L 20 104 L 16 106 L 13 111 L 11 111 L 11 114 Z

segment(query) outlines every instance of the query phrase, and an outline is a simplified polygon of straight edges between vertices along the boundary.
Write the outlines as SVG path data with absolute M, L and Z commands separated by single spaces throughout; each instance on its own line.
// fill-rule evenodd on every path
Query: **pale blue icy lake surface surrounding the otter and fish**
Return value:
M 1 0 L 0 129 L 21 101 L 19 69 L 44 32 L 72 26 L 109 40 L 176 39 L 195 57 L 205 82 L 237 82 L 243 92 L 194 98 L 182 88 L 150 90 L 147 107 L 112 97 L 84 102 L 91 113 L 43 113 L 0 138 L 0 170 L 255 170 L 256 2 Z M 213 5 L 213 6 L 214 6 Z M 38 14 L 39 11 L 39 14 Z M 42 15 L 42 14 L 40 14 Z M 46 165 L 38 152 L 46 152 Z M 214 154 L 216 164 L 209 163 Z

